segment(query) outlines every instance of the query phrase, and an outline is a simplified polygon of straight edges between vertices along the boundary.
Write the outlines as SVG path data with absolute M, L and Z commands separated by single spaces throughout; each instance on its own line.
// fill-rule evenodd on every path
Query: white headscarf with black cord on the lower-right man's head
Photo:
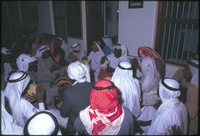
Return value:
M 179 83 L 176 80 L 164 78 L 159 81 L 159 96 L 162 102 L 180 95 Z

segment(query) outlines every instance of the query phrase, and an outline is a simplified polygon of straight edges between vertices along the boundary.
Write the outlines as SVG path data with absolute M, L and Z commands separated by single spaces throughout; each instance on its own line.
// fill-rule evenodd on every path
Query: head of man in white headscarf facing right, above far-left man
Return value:
M 19 71 L 34 71 L 37 72 L 37 61 L 35 57 L 31 57 L 28 54 L 21 54 L 17 60 L 17 67 Z

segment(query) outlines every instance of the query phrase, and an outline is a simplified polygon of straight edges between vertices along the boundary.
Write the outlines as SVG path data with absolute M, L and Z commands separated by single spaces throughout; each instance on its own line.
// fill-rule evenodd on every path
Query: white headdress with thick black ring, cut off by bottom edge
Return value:
M 24 126 L 24 135 L 57 135 L 58 121 L 48 112 L 41 111 L 28 119 Z

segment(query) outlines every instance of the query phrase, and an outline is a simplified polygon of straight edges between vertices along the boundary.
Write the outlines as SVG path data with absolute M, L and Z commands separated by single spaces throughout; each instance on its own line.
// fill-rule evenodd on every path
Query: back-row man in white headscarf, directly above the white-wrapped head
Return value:
M 71 54 L 69 56 L 71 56 L 71 59 L 72 57 L 76 56 L 78 60 L 81 62 L 82 58 L 87 56 L 87 54 L 81 47 L 81 45 L 78 42 L 75 42 L 74 44 L 71 45 Z

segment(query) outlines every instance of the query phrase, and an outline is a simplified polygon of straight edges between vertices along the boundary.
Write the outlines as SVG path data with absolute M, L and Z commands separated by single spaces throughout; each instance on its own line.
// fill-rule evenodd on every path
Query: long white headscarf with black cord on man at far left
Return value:
M 21 94 L 30 81 L 30 77 L 22 71 L 17 71 L 10 75 L 7 86 L 4 90 L 8 106 L 13 119 L 17 124 L 24 126 L 24 120 L 21 114 Z

